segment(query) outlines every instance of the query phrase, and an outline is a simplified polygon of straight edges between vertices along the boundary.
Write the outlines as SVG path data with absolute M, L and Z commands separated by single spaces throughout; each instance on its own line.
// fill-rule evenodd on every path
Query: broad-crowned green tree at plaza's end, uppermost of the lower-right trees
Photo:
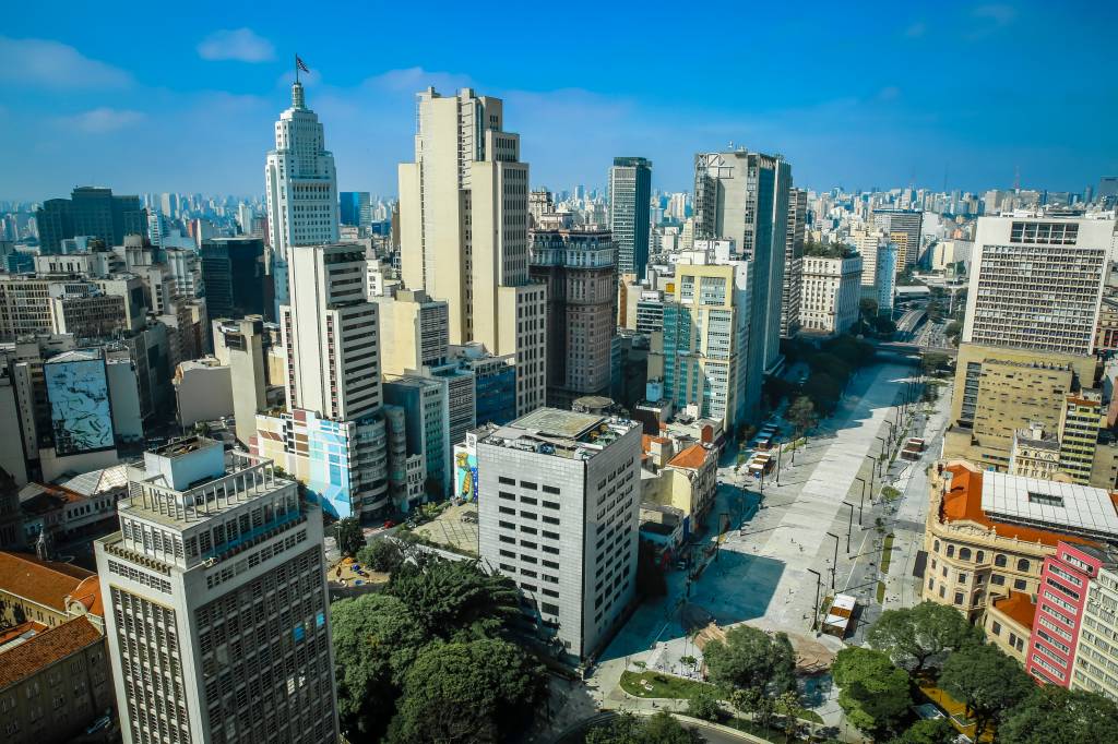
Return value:
M 885 610 L 865 638 L 870 646 L 887 652 L 893 664 L 919 674 L 929 662 L 941 661 L 948 651 L 982 642 L 980 632 L 955 608 L 927 601 Z

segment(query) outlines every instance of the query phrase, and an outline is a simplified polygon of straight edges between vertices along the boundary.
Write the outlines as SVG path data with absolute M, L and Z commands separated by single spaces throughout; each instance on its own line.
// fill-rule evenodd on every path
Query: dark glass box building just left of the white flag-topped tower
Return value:
M 210 317 L 239 318 L 274 312 L 274 288 L 262 239 L 210 238 L 199 252 Z

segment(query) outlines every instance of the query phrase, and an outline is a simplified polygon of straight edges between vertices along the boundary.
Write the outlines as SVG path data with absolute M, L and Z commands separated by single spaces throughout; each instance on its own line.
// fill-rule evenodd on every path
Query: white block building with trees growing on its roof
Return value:
M 844 251 L 845 254 L 845 251 Z M 805 333 L 837 335 L 858 322 L 862 257 L 804 256 L 799 323 Z

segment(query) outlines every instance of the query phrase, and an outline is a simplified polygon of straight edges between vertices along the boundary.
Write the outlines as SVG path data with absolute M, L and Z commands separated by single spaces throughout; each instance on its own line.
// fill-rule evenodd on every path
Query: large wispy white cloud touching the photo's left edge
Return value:
M 132 75 L 59 41 L 0 36 L 0 80 L 50 88 L 120 88 L 131 85 Z

